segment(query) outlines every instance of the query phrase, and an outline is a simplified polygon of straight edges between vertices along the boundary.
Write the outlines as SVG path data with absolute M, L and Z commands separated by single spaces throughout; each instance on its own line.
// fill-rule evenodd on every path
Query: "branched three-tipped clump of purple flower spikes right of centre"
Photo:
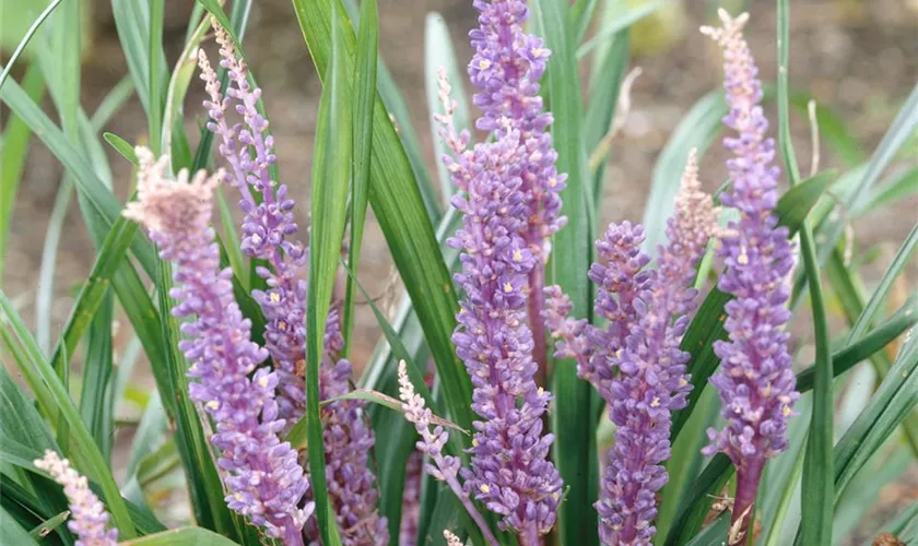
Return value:
M 679 344 L 694 310 L 695 265 L 714 235 L 717 213 L 701 190 L 693 154 L 656 270 L 645 269 L 649 258 L 639 250 L 639 227 L 612 225 L 597 241 L 603 262 L 593 264 L 590 277 L 600 285 L 596 310 L 609 320 L 605 329 L 567 318 L 569 300 L 557 287 L 546 289 L 545 319 L 558 337 L 556 356 L 577 360 L 616 425 L 597 502 L 604 544 L 650 544 L 656 531 L 656 494 L 668 479 L 662 463 L 670 456 L 671 416 L 685 407 L 691 389 L 688 355 Z

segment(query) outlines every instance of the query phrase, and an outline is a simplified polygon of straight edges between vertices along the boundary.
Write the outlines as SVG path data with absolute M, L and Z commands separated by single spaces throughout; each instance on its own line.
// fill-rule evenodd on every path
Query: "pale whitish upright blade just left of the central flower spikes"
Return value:
M 448 153 L 446 143 L 439 136 L 440 123 L 436 120 L 437 115 L 443 115 L 443 104 L 439 99 L 439 71 L 444 70 L 447 80 L 452 87 L 452 100 L 456 100 L 456 112 L 454 124 L 456 130 L 461 132 L 469 128 L 469 106 L 466 98 L 466 91 L 462 85 L 464 80 L 456 60 L 456 51 L 452 48 L 452 38 L 449 36 L 449 27 L 439 13 L 428 13 L 424 26 L 424 88 L 427 92 L 427 109 L 429 110 L 431 135 L 434 140 L 434 163 L 437 165 L 437 176 L 440 187 L 440 200 L 444 210 L 449 209 L 449 199 L 455 192 L 452 179 L 446 165 L 440 159 Z

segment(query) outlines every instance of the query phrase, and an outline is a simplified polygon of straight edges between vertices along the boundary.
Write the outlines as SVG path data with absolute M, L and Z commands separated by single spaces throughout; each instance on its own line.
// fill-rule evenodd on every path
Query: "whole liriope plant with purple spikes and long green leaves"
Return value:
M 474 0 L 467 73 L 431 15 L 428 170 L 378 59 L 376 2 L 293 0 L 323 85 L 304 229 L 270 97 L 243 52 L 250 2 L 227 13 L 198 0 L 170 72 L 165 2 L 113 2 L 130 78 L 92 117 L 78 98 L 79 3 L 51 2 L 0 75 L 0 191 L 13 199 L 40 139 L 97 253 L 55 346 L 47 319 L 33 333 L 21 295 L 0 290 L 0 543 L 839 542 L 918 456 L 918 299 L 892 290 L 918 226 L 872 292 L 846 228 L 915 192 L 897 153 L 918 127 L 918 87 L 867 154 L 789 88 L 788 0 L 777 1 L 774 91 L 743 38 L 755 21 L 720 11 L 693 39 L 720 46 L 723 91 L 668 143 L 642 223 L 601 226 L 602 166 L 627 115 L 628 26 L 663 3 Z M 201 48 L 211 37 L 219 63 Z M 17 83 L 8 69 L 30 41 L 70 62 L 36 52 Z M 195 149 L 183 123 L 192 85 L 208 119 Z M 39 107 L 44 87 L 60 127 Z M 99 138 L 131 92 L 145 142 Z M 843 174 L 800 175 L 789 115 L 801 106 Z M 721 122 L 729 179 L 709 194 L 698 165 Z M 136 166 L 125 204 L 103 140 Z M 407 293 L 391 319 L 356 280 L 367 206 Z M 59 230 L 57 218 L 51 270 Z M 829 297 L 849 323 L 835 336 Z M 358 299 L 384 335 L 352 364 Z M 136 339 L 118 365 L 116 309 Z M 813 342 L 812 365 L 793 337 Z M 130 385 L 140 352 L 155 392 Z M 111 435 L 128 396 L 143 417 L 116 479 Z M 166 529 L 163 491 L 187 497 L 184 526 Z M 873 527 L 907 544 L 918 512 Z

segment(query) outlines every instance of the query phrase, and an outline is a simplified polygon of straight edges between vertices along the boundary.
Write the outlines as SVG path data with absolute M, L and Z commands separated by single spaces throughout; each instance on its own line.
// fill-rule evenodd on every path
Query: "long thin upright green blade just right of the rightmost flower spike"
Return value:
M 790 60 L 790 3 L 778 0 L 778 149 L 784 159 L 790 186 L 800 181 L 800 171 L 790 136 L 788 79 Z M 815 129 L 814 129 L 815 130 Z M 816 151 L 817 152 L 817 151 Z M 814 153 L 816 153 L 814 152 Z M 801 487 L 802 518 L 797 544 L 832 544 L 832 498 L 835 496 L 832 479 L 832 446 L 834 427 L 834 395 L 832 389 L 832 352 L 828 323 L 822 294 L 822 275 L 816 257 L 813 229 L 804 217 L 800 228 L 800 253 L 810 287 L 813 316 L 813 334 L 816 347 L 814 366 L 813 413 L 807 437 Z

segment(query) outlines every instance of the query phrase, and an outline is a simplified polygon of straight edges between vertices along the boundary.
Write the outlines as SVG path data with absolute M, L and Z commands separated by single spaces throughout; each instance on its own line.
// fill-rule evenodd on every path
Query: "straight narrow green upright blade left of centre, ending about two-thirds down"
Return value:
M 379 52 L 379 13 L 376 0 L 361 3 L 361 23 L 357 29 L 357 59 L 353 72 L 354 88 L 354 155 L 351 178 L 351 242 L 348 264 L 360 272 L 366 207 L 369 202 L 369 167 L 373 153 L 373 106 L 376 99 L 376 58 Z M 354 322 L 354 278 L 348 277 L 344 292 L 344 356 L 351 354 L 351 334 Z

